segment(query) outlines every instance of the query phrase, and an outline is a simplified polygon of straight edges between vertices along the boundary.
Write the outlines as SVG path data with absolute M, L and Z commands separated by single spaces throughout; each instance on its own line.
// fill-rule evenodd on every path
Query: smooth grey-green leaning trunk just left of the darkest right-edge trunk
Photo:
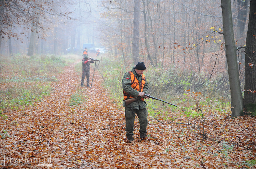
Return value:
M 221 0 L 223 35 L 225 39 L 228 75 L 231 92 L 231 117 L 242 115 L 243 97 L 239 81 L 236 45 L 234 40 L 232 11 L 230 0 Z

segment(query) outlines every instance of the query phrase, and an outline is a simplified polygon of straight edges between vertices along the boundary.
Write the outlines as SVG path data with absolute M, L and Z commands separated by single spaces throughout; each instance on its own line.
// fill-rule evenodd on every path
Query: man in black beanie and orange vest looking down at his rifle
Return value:
M 140 123 L 140 138 L 145 139 L 147 134 L 146 128 L 148 112 L 146 109 L 147 104 L 144 98 L 148 99 L 148 97 L 144 96 L 144 94 L 148 93 L 148 83 L 145 75 L 143 74 L 145 70 L 146 66 L 144 62 L 138 62 L 138 64 L 133 67 L 131 71 L 124 74 L 122 80 L 124 100 L 130 98 L 137 98 L 140 96 L 142 97 L 141 99 L 138 99 L 129 105 L 125 105 L 125 101 L 123 103 L 123 106 L 125 108 L 125 131 L 129 142 L 132 142 L 134 140 L 133 132 L 136 114 Z

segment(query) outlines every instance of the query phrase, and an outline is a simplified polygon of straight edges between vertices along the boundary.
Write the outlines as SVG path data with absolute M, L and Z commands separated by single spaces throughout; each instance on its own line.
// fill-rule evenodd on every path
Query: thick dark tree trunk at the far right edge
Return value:
M 244 107 L 247 111 L 255 111 L 256 107 L 256 1 L 250 2 L 249 23 L 245 49 Z M 254 112 L 256 113 L 256 112 Z

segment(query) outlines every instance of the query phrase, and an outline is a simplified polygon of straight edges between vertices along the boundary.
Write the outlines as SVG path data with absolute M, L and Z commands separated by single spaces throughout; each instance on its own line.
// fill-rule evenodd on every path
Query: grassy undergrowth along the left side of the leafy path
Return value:
M 51 92 L 50 83 L 77 55 L 1 56 L 0 112 L 33 105 Z

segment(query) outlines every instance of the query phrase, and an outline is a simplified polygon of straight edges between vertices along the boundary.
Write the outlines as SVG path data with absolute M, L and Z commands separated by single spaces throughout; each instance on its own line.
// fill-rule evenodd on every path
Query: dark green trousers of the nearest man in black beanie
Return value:
M 133 110 L 133 111 L 132 111 Z M 132 134 L 134 132 L 134 119 L 135 115 L 137 114 L 139 123 L 140 123 L 140 134 L 146 134 L 147 133 L 147 109 L 131 109 L 131 108 L 126 108 L 125 107 L 125 131 L 126 131 L 126 136 Z

